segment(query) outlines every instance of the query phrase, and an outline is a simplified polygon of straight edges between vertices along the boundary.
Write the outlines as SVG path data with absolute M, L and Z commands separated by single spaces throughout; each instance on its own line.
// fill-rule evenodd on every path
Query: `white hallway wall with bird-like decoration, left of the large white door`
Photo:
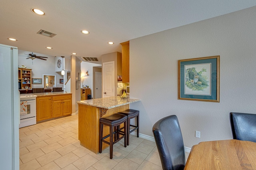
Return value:
M 91 89 L 91 95 L 93 95 L 93 67 L 94 66 L 101 66 L 101 64 L 94 64 L 94 63 L 88 63 L 88 62 L 81 62 L 81 86 L 86 85 L 89 86 Z M 89 76 L 84 76 L 86 75 L 86 71 L 88 70 Z

